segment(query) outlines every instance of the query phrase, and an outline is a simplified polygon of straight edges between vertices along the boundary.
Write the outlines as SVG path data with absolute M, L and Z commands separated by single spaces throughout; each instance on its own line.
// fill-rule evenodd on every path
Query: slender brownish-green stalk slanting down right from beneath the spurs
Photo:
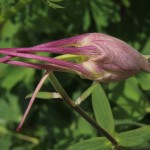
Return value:
M 92 118 L 90 118 L 83 109 L 81 109 L 78 105 L 76 105 L 71 98 L 68 96 L 68 94 L 65 92 L 63 87 L 60 85 L 59 81 L 56 79 L 55 75 L 51 72 L 49 74 L 49 80 L 56 89 L 56 91 L 61 95 L 63 100 L 72 107 L 80 116 L 82 116 L 87 122 L 89 122 L 97 131 L 99 134 L 105 136 L 114 146 L 116 149 L 118 149 L 118 142 L 107 132 L 105 131 L 101 126 L 99 126 Z

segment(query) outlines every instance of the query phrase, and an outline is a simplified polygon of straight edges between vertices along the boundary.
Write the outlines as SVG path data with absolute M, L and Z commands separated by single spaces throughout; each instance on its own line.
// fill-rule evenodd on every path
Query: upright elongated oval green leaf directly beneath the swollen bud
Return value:
M 114 120 L 109 101 L 100 84 L 92 92 L 92 105 L 98 124 L 107 132 L 114 134 Z

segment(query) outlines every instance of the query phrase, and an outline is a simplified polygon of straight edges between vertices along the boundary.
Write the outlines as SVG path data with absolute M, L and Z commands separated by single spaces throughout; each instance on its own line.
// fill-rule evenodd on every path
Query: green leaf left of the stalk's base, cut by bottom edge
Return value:
M 67 148 L 67 150 L 112 150 L 111 143 L 103 137 L 81 141 Z

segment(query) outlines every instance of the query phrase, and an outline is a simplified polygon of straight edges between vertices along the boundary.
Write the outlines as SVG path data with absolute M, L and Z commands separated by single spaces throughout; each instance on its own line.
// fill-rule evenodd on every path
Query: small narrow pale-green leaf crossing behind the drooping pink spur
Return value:
M 25 98 L 31 98 L 33 93 L 28 94 Z M 60 94 L 56 92 L 39 92 L 36 96 L 36 98 L 41 99 L 52 99 L 52 98 L 61 98 Z

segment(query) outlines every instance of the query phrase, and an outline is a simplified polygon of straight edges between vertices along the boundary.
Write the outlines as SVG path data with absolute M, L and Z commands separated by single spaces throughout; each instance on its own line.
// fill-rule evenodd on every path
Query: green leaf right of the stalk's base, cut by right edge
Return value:
M 150 141 L 150 126 L 120 133 L 118 142 L 124 147 L 138 146 Z

